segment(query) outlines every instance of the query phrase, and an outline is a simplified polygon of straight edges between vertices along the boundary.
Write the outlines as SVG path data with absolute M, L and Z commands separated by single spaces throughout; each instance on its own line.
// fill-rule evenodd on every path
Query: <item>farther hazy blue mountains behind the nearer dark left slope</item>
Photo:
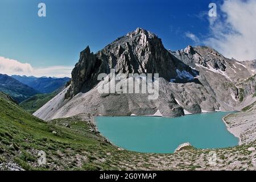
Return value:
M 53 78 L 53 77 L 33 77 L 33 76 L 19 76 L 19 75 L 13 75 L 11 76 L 18 80 L 19 82 L 22 82 L 23 84 L 26 84 L 30 86 L 31 88 L 37 90 L 39 93 L 51 93 L 57 89 L 59 89 L 61 86 L 65 85 L 70 78 L 64 77 L 64 78 Z

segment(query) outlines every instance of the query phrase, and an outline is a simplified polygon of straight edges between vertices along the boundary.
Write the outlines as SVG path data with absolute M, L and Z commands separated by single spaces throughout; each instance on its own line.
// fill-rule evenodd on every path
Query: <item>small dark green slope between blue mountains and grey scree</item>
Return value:
M 46 104 L 49 100 L 57 95 L 57 92 L 46 93 L 46 94 L 36 94 L 28 98 L 27 100 L 19 104 L 20 107 L 28 111 L 29 113 L 35 113 L 40 107 Z

